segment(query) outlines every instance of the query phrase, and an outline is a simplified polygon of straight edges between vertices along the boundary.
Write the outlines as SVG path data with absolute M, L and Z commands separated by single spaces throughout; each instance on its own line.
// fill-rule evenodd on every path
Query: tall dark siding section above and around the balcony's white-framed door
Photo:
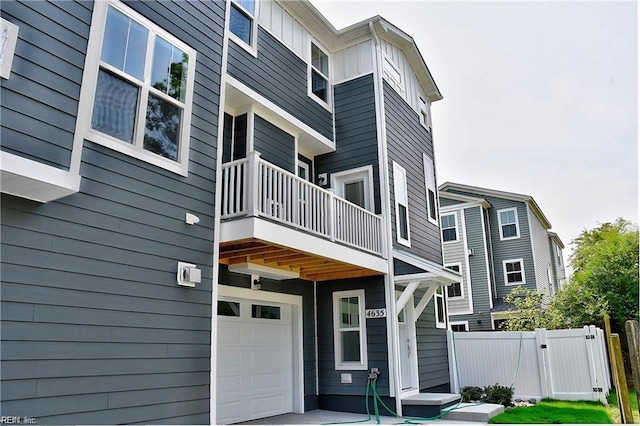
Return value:
M 375 213 L 380 214 L 380 167 L 373 75 L 334 87 L 336 150 L 315 157 L 316 174 L 331 174 L 363 166 L 373 168 Z

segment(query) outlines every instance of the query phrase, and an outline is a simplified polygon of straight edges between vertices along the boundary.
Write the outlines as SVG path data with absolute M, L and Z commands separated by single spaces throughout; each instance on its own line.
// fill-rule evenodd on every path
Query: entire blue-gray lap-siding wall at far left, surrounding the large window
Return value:
M 26 414 L 40 424 L 210 423 L 213 202 L 225 3 L 126 4 L 198 52 L 189 175 L 85 141 L 79 193 L 47 204 L 2 195 L 3 415 Z M 42 72 L 40 84 L 58 84 L 69 60 L 80 70 L 68 77 L 80 81 L 91 3 L 3 2 L 2 14 L 12 21 L 19 16 L 22 57 L 32 55 L 36 45 L 59 49 L 59 56 L 24 63 L 25 69 L 41 69 L 29 71 Z M 24 41 L 30 37 L 44 41 Z M 63 47 L 66 40 L 75 46 Z M 75 53 L 67 55 L 68 49 Z M 43 64 L 60 75 L 51 75 Z M 50 106 L 55 97 L 29 99 L 46 91 L 5 98 L 5 83 L 11 81 L 3 81 L 3 106 L 27 113 L 20 105 L 29 105 L 29 114 L 47 121 L 55 116 Z M 65 93 L 75 99 L 79 88 Z M 65 119 L 58 126 L 73 131 L 76 110 L 73 125 L 63 124 Z M 3 117 L 3 131 L 6 124 Z M 56 135 L 52 131 L 47 140 L 59 142 Z M 39 141 L 29 148 L 35 153 L 31 158 L 40 148 L 50 149 Z M 186 212 L 200 223 L 185 224 Z M 178 261 L 201 269 L 202 282 L 195 288 L 177 285 Z

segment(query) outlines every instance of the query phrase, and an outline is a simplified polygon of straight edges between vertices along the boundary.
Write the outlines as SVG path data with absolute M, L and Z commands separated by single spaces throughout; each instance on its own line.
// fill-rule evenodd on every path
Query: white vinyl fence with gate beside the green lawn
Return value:
M 606 400 L 611 388 L 604 332 L 572 330 L 449 332 L 453 392 L 512 386 L 514 398 Z

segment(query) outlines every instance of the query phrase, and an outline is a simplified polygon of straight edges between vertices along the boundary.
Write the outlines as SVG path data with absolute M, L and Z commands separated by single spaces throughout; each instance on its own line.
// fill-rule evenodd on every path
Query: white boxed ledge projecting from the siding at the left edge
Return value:
M 80 191 L 80 175 L 0 152 L 2 192 L 40 203 L 58 200 Z

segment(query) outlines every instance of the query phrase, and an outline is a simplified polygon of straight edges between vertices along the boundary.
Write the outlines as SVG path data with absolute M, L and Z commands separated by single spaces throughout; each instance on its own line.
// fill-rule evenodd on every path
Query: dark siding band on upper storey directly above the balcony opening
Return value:
M 307 94 L 307 63 L 260 26 L 257 57 L 238 46 L 235 41 L 229 41 L 227 72 L 324 137 L 333 140 L 331 112 Z

